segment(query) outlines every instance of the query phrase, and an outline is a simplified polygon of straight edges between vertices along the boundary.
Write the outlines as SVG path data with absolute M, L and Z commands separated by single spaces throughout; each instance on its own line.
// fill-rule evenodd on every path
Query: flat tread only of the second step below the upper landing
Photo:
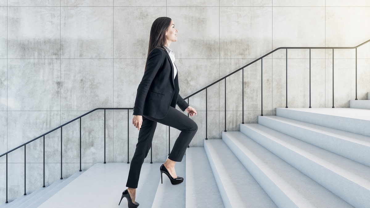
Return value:
M 357 184 L 370 189 L 370 167 L 260 124 L 243 124 Z

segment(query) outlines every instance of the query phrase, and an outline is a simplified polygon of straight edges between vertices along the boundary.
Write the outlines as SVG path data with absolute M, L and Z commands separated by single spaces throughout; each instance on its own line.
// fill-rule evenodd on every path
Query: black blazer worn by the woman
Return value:
M 162 119 L 169 107 L 182 111 L 189 106 L 179 95 L 178 73 L 174 77 L 174 66 L 164 48 L 154 48 L 148 56 L 147 69 L 139 84 L 133 115 L 148 115 Z

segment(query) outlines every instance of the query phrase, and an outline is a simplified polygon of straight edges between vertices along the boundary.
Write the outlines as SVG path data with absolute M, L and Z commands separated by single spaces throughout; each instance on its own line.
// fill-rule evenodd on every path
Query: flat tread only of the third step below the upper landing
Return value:
M 225 135 L 298 207 L 352 207 L 242 132 Z

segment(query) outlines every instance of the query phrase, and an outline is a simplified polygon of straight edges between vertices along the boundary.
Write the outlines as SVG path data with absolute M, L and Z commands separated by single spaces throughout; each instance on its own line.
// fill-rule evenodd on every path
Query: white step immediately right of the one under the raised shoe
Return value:
M 186 208 L 224 208 L 203 147 L 186 150 Z

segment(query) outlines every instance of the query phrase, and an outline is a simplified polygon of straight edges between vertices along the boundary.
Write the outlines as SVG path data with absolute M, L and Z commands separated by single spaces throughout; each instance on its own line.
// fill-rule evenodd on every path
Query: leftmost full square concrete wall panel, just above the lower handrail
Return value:
M 60 60 L 8 60 L 8 110 L 60 110 L 60 88 Z

